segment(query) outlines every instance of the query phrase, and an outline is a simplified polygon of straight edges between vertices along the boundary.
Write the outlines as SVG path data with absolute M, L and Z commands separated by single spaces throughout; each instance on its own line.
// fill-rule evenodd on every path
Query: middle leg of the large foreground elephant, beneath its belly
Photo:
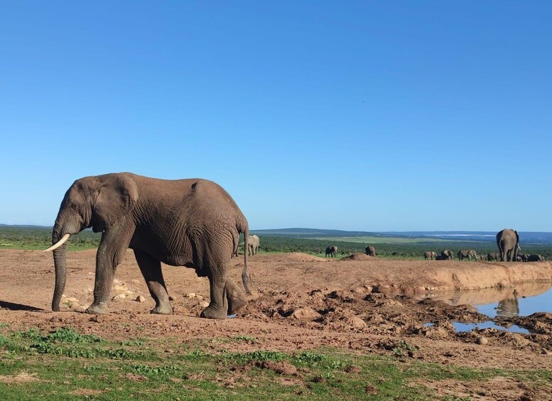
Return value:
M 156 307 L 151 309 L 150 312 L 172 314 L 173 307 L 171 307 L 171 302 L 168 299 L 167 287 L 161 271 L 161 262 L 136 249 L 134 250 L 134 256 L 136 256 L 136 262 L 140 267 L 144 280 L 146 280 L 149 293 L 156 302 Z

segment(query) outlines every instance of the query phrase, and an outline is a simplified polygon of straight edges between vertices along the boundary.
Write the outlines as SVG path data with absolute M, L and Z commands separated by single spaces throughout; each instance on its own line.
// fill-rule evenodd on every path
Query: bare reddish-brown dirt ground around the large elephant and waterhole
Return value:
M 232 259 L 232 276 L 237 282 L 242 258 Z M 163 274 L 175 312 L 170 316 L 150 314 L 154 302 L 131 251 L 117 269 L 110 313 L 97 317 L 85 314 L 83 310 L 92 303 L 94 263 L 95 250 L 67 253 L 63 310 L 51 312 L 51 253 L 0 251 L 0 322 L 8 323 L 10 329 L 72 326 L 81 333 L 107 339 L 171 336 L 185 342 L 239 335 L 257 339 L 250 343 L 228 342 L 232 351 L 296 351 L 332 346 L 355 353 L 393 355 L 393 350 L 406 342 L 417 347 L 409 357 L 423 361 L 485 368 L 552 369 L 552 314 L 502 320 L 531 329 L 531 335 L 494 329 L 458 334 L 452 321 L 483 322 L 487 317 L 467 304 L 453 307 L 440 300 L 420 300 L 420 293 L 428 290 L 491 286 L 509 290 L 509 286 L 521 282 L 540 282 L 532 285 L 541 289 L 552 280 L 552 263 L 548 262 L 259 255 L 249 258 L 254 296 L 236 318 L 224 321 L 198 317 L 202 303 L 208 302 L 207 279 L 197 278 L 193 269 L 172 266 L 163 266 Z M 529 288 L 531 292 L 531 285 Z M 492 294 L 496 296 L 497 292 Z M 136 300 L 140 295 L 144 302 Z M 427 323 L 433 326 L 426 326 Z M 489 380 L 483 385 L 483 394 L 494 399 L 522 397 L 531 391 L 512 380 Z M 466 383 L 439 383 L 438 391 L 444 395 L 461 395 L 470 390 Z M 550 394 L 532 395 L 535 396 Z

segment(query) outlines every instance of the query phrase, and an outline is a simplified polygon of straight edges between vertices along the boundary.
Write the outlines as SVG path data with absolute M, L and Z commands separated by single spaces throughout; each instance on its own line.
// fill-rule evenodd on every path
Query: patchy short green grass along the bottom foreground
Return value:
M 338 349 L 229 352 L 212 348 L 207 339 L 188 344 L 171 339 L 111 342 L 70 328 L 3 332 L 2 400 L 427 400 L 437 397 L 435 391 L 416 384 L 418 380 L 512 377 L 531 388 L 552 385 L 547 370 L 441 366 Z M 61 352 L 43 353 L 48 346 Z M 156 351 L 167 348 L 171 352 Z M 406 343 L 399 348 L 415 351 Z M 298 375 L 280 375 L 263 361 L 287 363 Z

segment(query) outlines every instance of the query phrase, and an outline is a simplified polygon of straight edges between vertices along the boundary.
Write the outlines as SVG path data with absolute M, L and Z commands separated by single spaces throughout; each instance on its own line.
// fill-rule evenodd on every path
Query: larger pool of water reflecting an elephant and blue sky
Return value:
M 469 304 L 488 317 L 529 316 L 535 312 L 552 313 L 552 283 L 528 282 L 515 287 L 484 290 L 438 292 L 427 296 L 451 305 Z M 523 330 L 523 329 L 521 329 Z

